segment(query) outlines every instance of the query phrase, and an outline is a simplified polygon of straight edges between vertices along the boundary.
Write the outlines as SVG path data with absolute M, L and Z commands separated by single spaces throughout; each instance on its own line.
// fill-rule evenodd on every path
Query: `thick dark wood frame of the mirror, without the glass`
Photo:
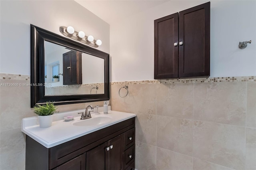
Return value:
M 31 32 L 31 107 L 54 101 L 56 105 L 104 101 L 110 99 L 109 54 L 58 34 L 30 25 Z M 56 43 L 104 59 L 104 94 L 45 96 L 44 41 Z

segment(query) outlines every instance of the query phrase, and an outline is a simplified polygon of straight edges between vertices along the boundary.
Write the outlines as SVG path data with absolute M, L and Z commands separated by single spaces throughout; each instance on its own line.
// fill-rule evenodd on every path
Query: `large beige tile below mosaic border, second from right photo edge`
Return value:
M 246 82 L 195 83 L 194 119 L 245 126 Z

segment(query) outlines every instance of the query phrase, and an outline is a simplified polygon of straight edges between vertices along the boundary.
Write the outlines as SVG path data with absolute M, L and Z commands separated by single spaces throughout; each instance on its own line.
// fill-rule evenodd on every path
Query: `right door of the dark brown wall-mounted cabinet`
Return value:
M 210 75 L 210 2 L 180 12 L 179 77 Z

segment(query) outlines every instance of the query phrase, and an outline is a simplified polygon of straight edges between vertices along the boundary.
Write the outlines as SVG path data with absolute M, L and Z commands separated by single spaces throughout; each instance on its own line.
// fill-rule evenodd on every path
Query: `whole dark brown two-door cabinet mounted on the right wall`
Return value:
M 154 20 L 154 79 L 210 76 L 210 2 Z

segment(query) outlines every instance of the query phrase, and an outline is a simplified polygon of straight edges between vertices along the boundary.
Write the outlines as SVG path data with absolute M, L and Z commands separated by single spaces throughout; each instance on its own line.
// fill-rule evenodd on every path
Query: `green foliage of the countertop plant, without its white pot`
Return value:
M 34 107 L 34 113 L 38 116 L 48 116 L 56 113 L 57 106 L 53 102 L 46 102 L 44 105 L 36 105 Z

